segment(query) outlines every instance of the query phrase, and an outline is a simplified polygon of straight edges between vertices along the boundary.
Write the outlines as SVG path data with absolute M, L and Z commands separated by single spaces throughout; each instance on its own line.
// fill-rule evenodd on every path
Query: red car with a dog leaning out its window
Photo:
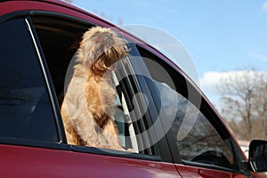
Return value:
M 116 116 L 123 119 L 117 122 L 120 142 L 134 152 L 70 145 L 66 139 L 60 108 L 69 63 L 93 26 L 119 32 L 134 56 L 115 72 L 123 106 Z M 1 177 L 265 176 L 257 172 L 267 171 L 267 142 L 251 142 L 247 160 L 179 67 L 90 12 L 55 0 L 1 1 L 0 53 Z M 136 98 L 137 93 L 142 94 Z

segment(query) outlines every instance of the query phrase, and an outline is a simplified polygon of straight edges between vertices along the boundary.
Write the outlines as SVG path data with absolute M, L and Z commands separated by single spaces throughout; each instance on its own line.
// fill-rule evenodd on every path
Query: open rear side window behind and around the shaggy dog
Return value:
M 38 40 L 42 46 L 45 61 L 50 71 L 54 90 L 61 108 L 66 88 L 68 90 L 69 82 L 73 77 L 74 66 L 77 64 L 77 49 L 79 43 L 85 31 L 88 30 L 88 28 L 93 28 L 93 24 L 60 17 L 46 17 L 45 15 L 34 16 L 32 17 L 32 21 L 36 29 Z M 125 61 L 125 59 L 119 63 L 123 65 L 109 71 L 112 76 L 113 87 L 116 91 L 114 96 L 116 107 L 114 108 L 112 117 L 117 128 L 119 144 L 123 150 L 155 156 L 157 155 L 155 150 L 147 150 L 147 148 L 143 146 L 146 144 L 146 141 L 144 141 L 143 138 L 138 139 L 136 137 L 136 135 L 142 133 L 141 127 L 143 125 L 140 121 L 133 121 L 134 115 L 131 114 L 132 109 L 130 105 L 132 103 L 132 98 L 129 88 L 135 87 L 133 83 L 134 78 L 119 77 L 120 75 L 127 76 L 124 72 L 129 72 L 131 70 L 131 64 Z M 107 91 L 107 93 L 109 94 L 109 91 Z M 66 125 L 64 126 L 66 129 Z M 77 131 L 74 130 L 73 132 Z M 86 146 L 83 142 L 68 143 L 81 147 Z M 109 147 L 105 149 L 109 149 Z

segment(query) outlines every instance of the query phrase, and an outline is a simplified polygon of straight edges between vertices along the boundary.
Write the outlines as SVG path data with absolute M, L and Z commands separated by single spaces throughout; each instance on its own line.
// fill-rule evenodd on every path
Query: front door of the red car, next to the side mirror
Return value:
M 182 177 L 247 177 L 245 159 L 223 120 L 172 62 L 138 45 L 174 165 Z

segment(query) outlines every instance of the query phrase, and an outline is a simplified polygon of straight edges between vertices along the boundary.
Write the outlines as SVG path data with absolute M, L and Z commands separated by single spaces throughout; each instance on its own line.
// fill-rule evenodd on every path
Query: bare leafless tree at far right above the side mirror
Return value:
M 239 139 L 267 138 L 267 74 L 243 70 L 218 86 L 221 112 Z

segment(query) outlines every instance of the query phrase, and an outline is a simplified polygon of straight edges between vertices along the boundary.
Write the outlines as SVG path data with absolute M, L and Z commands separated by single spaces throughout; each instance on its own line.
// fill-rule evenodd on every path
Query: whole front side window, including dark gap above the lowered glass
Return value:
M 215 120 L 218 118 L 205 116 L 201 111 L 203 106 L 196 107 L 195 103 L 189 101 L 185 78 L 152 53 L 141 47 L 139 51 L 158 88 L 160 106 L 165 113 L 163 122 L 172 123 L 167 129 L 174 141 L 174 154 L 179 155 L 180 161 L 185 164 L 238 169 L 230 137 L 225 134 L 227 131 L 219 129 Z M 164 74 L 163 70 L 169 78 L 158 75 Z M 214 123 L 217 125 L 214 126 Z

